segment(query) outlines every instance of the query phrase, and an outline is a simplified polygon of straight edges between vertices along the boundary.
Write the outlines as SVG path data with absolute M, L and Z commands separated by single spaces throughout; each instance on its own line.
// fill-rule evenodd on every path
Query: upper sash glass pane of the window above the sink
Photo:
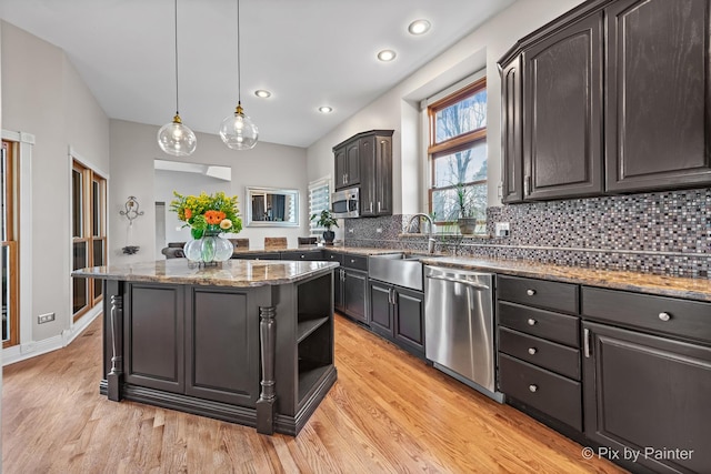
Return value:
M 434 115 L 434 142 L 441 143 L 487 127 L 487 90 L 463 99 Z

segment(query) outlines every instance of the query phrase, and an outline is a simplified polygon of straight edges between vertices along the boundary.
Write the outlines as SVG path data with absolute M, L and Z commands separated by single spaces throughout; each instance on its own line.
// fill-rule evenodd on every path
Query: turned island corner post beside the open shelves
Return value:
M 261 393 L 257 401 L 257 432 L 274 433 L 274 360 L 276 346 L 276 310 L 273 306 L 259 307 L 259 339 L 262 362 Z

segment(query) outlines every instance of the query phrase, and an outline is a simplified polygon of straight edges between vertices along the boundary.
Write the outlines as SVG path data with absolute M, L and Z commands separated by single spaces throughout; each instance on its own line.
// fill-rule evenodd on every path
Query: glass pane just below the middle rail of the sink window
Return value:
M 433 188 L 469 183 L 487 179 L 487 142 L 481 140 L 470 149 L 434 159 Z

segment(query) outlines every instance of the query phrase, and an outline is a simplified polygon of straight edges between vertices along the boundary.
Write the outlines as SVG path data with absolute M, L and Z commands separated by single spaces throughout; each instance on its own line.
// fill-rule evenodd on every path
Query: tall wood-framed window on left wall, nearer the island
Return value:
M 71 171 L 72 269 L 99 266 L 106 263 L 106 180 L 73 161 Z M 74 321 L 101 302 L 101 282 L 93 279 L 72 279 L 72 311 Z

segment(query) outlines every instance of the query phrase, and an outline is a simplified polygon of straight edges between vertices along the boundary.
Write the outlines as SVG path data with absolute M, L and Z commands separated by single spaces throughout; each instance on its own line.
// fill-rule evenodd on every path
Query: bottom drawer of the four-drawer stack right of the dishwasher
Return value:
M 582 431 L 580 382 L 499 354 L 501 392 Z

